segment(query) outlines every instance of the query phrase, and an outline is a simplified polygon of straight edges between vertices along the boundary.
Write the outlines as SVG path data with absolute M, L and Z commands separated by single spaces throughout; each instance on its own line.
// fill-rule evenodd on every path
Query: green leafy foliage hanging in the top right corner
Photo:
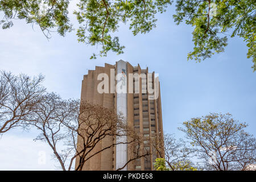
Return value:
M 239 36 L 247 43 L 247 58 L 253 59 L 255 71 L 255 9 L 254 0 L 178 0 L 175 22 L 180 24 L 184 21 L 194 27 L 195 47 L 188 53 L 188 59 L 200 62 L 214 53 L 224 52 L 228 36 Z

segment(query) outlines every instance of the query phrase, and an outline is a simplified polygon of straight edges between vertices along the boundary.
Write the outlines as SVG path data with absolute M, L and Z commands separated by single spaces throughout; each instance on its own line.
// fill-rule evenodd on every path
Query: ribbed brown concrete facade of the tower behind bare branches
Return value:
M 111 70 L 112 69 L 112 70 Z M 163 123 L 162 123 L 162 107 L 161 107 L 161 98 L 160 98 L 160 84 L 159 84 L 159 97 L 156 100 L 145 100 L 148 98 L 148 93 L 142 94 L 142 79 L 139 78 L 139 91 L 140 93 L 123 93 L 118 94 L 115 92 L 113 85 L 117 85 L 117 82 L 114 79 L 117 73 L 122 73 L 122 69 L 125 70 L 126 75 L 126 84 L 128 82 L 133 83 L 134 80 L 129 80 L 129 73 L 138 73 L 142 72 L 148 73 L 148 69 L 141 69 L 139 64 L 137 67 L 133 67 L 126 61 L 117 61 L 115 65 L 105 64 L 105 67 L 96 67 L 93 71 L 88 71 L 88 75 L 84 75 L 82 80 L 82 89 L 81 89 L 81 100 L 86 100 L 94 104 L 100 104 L 106 108 L 116 109 L 121 111 L 123 116 L 127 118 L 127 124 L 129 126 L 139 125 L 138 132 L 143 137 L 144 134 L 149 135 L 150 137 L 163 137 Z M 97 92 L 97 85 L 101 80 L 97 80 L 98 74 L 106 73 L 109 76 L 109 93 L 100 94 Z M 154 80 L 154 72 L 153 72 Z M 129 85 L 126 85 L 126 90 L 128 92 Z M 153 86 L 154 82 L 153 82 Z M 111 93 L 112 92 L 112 93 Z M 137 98 L 138 97 L 138 98 Z M 147 110 L 146 113 L 143 110 Z M 135 115 L 137 114 L 138 115 Z M 152 120 L 154 119 L 154 120 Z M 138 121 L 138 122 L 137 122 Z M 146 125 L 143 121 L 148 121 Z M 148 131 L 143 129 L 148 127 Z M 152 135 L 152 132 L 155 132 L 155 135 Z M 110 146 L 113 142 L 126 141 L 127 138 L 115 139 L 112 137 L 107 137 L 98 143 L 93 152 L 101 150 L 106 146 Z M 129 138 L 128 138 L 129 140 Z M 78 148 L 80 145 L 80 138 L 78 138 Z M 126 163 L 133 155 L 131 155 L 130 146 L 126 144 L 119 145 L 117 147 L 109 148 L 101 152 L 100 154 L 95 155 L 93 158 L 89 159 L 83 170 L 115 170 L 119 167 L 122 167 L 122 164 Z M 143 149 L 143 146 L 142 146 Z M 147 160 L 141 158 L 140 160 L 134 160 L 129 163 L 128 166 L 123 170 L 152 170 L 153 163 L 155 162 L 156 155 L 150 155 L 147 157 Z M 76 166 L 78 161 L 76 160 Z

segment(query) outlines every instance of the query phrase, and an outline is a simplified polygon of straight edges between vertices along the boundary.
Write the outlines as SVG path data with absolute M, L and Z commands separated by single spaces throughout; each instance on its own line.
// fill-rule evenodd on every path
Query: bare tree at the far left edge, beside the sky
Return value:
M 29 77 L 24 74 L 15 76 L 0 71 L 0 134 L 10 129 L 23 126 L 33 107 L 46 90 L 42 86 L 44 77 Z

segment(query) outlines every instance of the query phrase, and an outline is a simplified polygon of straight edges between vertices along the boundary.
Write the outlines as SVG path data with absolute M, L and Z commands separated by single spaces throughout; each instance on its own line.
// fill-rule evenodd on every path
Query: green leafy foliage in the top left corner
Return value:
M 57 32 L 64 36 L 72 30 L 68 5 L 67 0 L 0 0 L 0 13 L 4 13 L 0 24 L 6 29 L 13 26 L 13 19 L 24 19 L 27 23 L 38 24 L 47 38 L 50 38 L 52 28 L 57 28 Z

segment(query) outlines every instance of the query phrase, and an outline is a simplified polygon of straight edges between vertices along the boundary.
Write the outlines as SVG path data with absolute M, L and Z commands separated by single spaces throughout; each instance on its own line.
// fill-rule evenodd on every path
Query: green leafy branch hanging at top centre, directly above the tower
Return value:
M 101 56 L 110 50 L 123 53 L 124 46 L 119 44 L 117 36 L 112 33 L 118 30 L 118 24 L 130 23 L 134 35 L 147 33 L 156 26 L 155 14 L 166 10 L 170 0 L 135 0 L 135 1 L 80 1 L 79 11 L 75 11 L 81 26 L 77 30 L 79 42 L 92 46 L 100 44 Z M 96 55 L 91 58 L 96 59 Z

